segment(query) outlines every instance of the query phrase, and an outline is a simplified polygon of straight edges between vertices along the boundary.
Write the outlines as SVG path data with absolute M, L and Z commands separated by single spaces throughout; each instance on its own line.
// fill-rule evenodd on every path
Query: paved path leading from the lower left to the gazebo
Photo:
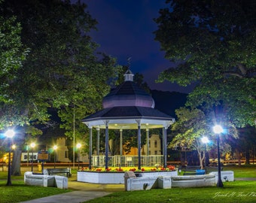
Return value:
M 235 178 L 235 180 L 256 180 L 256 178 Z M 81 203 L 93 198 L 99 198 L 111 192 L 124 191 L 123 184 L 93 184 L 76 181 L 76 177 L 69 178 L 69 189 L 73 192 L 66 192 L 59 195 L 52 195 L 44 198 L 37 198 L 23 203 Z

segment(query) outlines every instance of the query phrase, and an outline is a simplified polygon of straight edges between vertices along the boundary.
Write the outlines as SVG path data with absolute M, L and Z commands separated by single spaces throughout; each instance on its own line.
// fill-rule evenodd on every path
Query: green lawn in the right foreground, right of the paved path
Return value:
M 202 187 L 202 188 L 172 188 L 151 189 L 133 192 L 114 192 L 102 198 L 96 198 L 87 203 L 156 203 L 156 202 L 178 202 L 178 203 L 246 203 L 256 202 L 256 181 L 234 181 L 225 182 L 224 188 Z

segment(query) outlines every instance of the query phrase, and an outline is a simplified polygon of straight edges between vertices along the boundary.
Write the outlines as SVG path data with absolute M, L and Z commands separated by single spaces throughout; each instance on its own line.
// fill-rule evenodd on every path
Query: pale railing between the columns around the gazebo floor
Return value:
M 133 155 L 115 155 L 108 156 L 108 167 L 136 167 L 138 166 L 138 156 Z M 105 167 L 105 156 L 92 156 L 93 166 Z M 158 166 L 163 165 L 163 155 L 141 156 L 141 166 Z

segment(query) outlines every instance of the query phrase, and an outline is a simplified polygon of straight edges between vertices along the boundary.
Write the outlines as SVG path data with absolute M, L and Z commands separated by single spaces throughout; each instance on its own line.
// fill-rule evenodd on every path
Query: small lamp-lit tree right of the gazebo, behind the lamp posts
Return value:
M 201 138 L 206 136 L 209 140 L 215 140 L 215 135 L 212 132 L 212 126 L 214 126 L 215 123 L 214 116 L 206 115 L 203 111 L 197 108 L 179 108 L 175 113 L 178 120 L 172 125 L 172 135 L 174 135 L 174 137 L 172 138 L 169 147 L 174 149 L 177 149 L 177 147 L 186 147 L 188 150 L 197 150 L 200 166 L 203 168 L 203 160 L 205 159 L 206 154 L 204 151 L 205 146 L 202 143 Z M 209 117 L 211 117 L 210 120 Z M 227 129 L 227 132 L 225 133 L 226 135 L 221 138 L 221 148 L 225 151 L 230 147 L 224 141 L 229 137 L 237 138 L 237 132 L 236 128 L 227 121 L 222 120 L 222 123 Z M 208 148 L 210 148 L 209 145 Z

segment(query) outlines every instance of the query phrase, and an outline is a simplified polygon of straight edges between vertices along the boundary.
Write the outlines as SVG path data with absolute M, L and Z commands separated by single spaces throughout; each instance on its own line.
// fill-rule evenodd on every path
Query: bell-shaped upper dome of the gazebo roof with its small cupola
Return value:
M 133 73 L 128 70 L 124 74 L 124 82 L 103 98 L 102 105 L 103 108 L 128 106 L 154 108 L 154 99 L 133 82 Z

